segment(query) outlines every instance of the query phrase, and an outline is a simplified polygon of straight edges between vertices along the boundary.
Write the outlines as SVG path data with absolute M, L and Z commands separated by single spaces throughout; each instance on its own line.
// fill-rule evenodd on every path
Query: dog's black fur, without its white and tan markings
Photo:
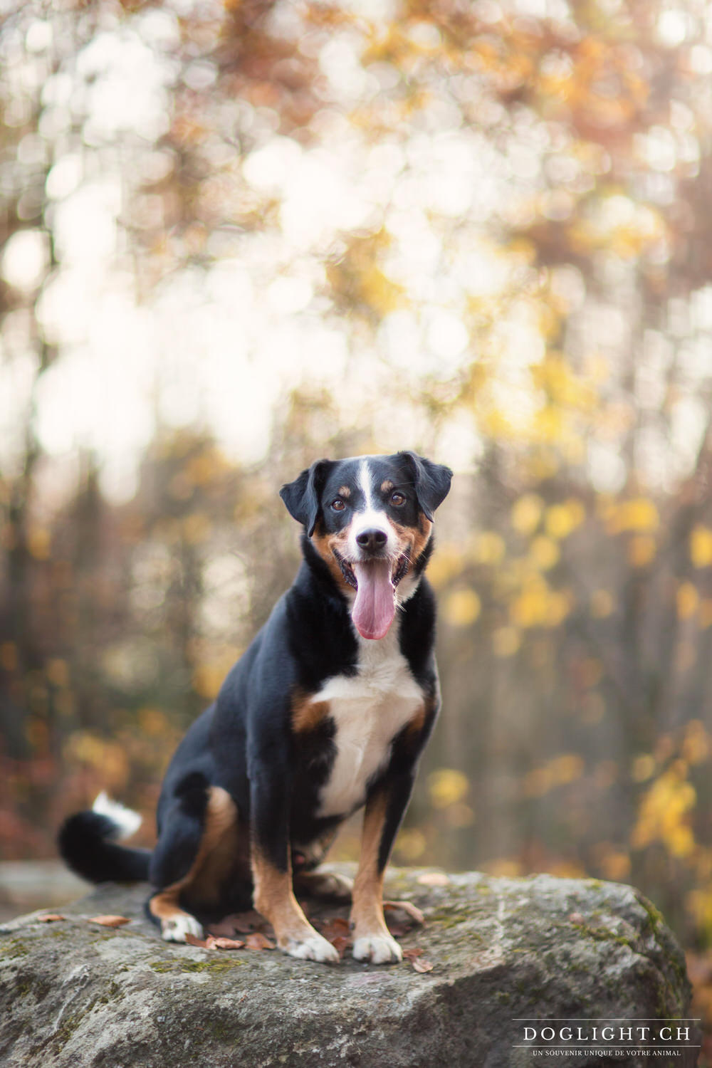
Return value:
M 296 695 L 312 695 L 334 676 L 359 670 L 359 639 L 350 615 L 348 590 L 334 577 L 312 535 L 344 532 L 363 508 L 360 459 L 317 460 L 282 487 L 281 497 L 304 527 L 303 562 L 294 585 L 241 659 L 227 675 L 217 701 L 189 728 L 167 771 L 158 802 L 158 843 L 149 854 L 109 842 L 113 824 L 106 817 L 80 813 L 60 833 L 60 849 L 70 867 L 92 881 L 145 879 L 156 889 L 175 884 L 189 871 L 201 842 L 208 788 L 225 789 L 237 806 L 240 833 L 282 871 L 307 864 L 338 823 L 350 815 L 319 816 L 319 792 L 334 764 L 335 724 L 327 718 L 307 733 L 292 728 Z M 374 501 L 401 529 L 420 529 L 432 518 L 449 488 L 452 472 L 414 453 L 369 457 Z M 387 482 L 386 482 L 387 480 Z M 393 484 L 405 498 L 381 487 Z M 334 508 L 339 488 L 350 490 L 344 507 Z M 381 770 L 366 784 L 366 795 L 386 798 L 386 820 L 379 864 L 385 866 L 410 798 L 415 768 L 439 708 L 434 662 L 436 606 L 423 571 L 432 549 L 428 543 L 411 561 L 418 584 L 396 613 L 400 651 L 421 688 L 427 714 L 395 737 Z M 409 725 L 410 726 L 410 725 Z M 326 847 L 325 847 L 326 848 Z M 315 854 L 316 855 L 316 854 Z M 317 855 L 318 860 L 318 855 Z M 316 860 L 308 862 L 312 866 Z M 248 852 L 235 858 L 220 888 L 217 913 L 244 902 L 251 892 Z M 201 902 L 185 900 L 200 915 Z

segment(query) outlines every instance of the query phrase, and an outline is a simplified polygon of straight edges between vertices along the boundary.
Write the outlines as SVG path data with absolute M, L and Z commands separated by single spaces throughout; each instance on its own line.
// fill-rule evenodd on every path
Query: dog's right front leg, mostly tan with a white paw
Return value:
M 371 964 L 402 960 L 400 946 L 383 917 L 383 876 L 412 788 L 413 774 L 400 773 L 380 783 L 366 800 L 351 927 L 354 958 Z

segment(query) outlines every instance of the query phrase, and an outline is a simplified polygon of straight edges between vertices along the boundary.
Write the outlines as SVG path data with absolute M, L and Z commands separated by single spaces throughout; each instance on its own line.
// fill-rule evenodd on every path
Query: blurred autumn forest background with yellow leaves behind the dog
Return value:
M 395 861 L 633 882 L 712 972 L 709 5 L 4 0 L 0 65 L 1 855 L 101 788 L 149 843 L 280 485 L 415 447 Z

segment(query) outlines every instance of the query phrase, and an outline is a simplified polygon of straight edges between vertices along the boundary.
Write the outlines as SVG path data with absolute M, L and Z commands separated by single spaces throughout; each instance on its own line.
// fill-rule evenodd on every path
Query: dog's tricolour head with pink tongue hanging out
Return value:
M 453 472 L 415 453 L 317 460 L 280 497 L 351 599 L 362 638 L 383 638 L 412 593 L 432 533 L 432 514 Z

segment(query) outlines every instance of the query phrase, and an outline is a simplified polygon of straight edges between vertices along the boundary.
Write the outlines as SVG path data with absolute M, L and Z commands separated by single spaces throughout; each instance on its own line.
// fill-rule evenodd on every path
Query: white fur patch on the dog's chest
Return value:
M 359 671 L 328 679 L 312 701 L 328 701 L 336 756 L 321 789 L 319 816 L 342 816 L 365 800 L 391 742 L 423 705 L 423 691 L 398 648 L 397 624 L 380 641 L 360 639 Z

